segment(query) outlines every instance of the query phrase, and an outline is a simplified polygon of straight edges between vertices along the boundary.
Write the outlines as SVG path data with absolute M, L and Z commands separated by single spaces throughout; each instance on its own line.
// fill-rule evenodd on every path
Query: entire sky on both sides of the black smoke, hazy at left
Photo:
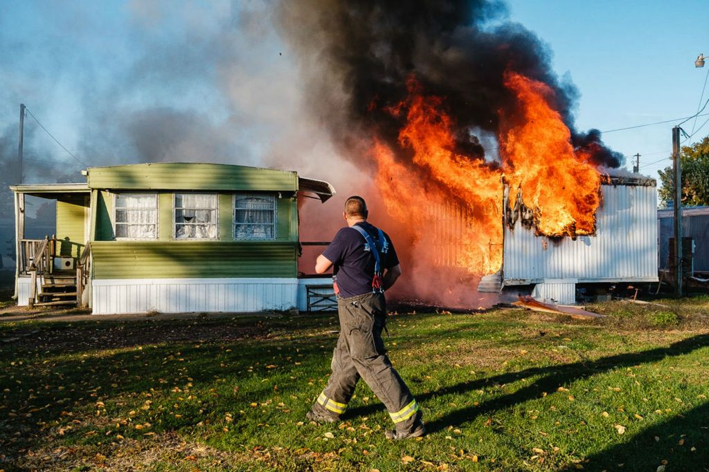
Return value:
M 82 163 L 147 155 L 272 165 L 287 152 L 296 170 L 316 169 L 318 160 L 308 156 L 333 149 L 301 119 L 298 64 L 274 30 L 270 3 L 2 1 L 0 156 L 16 153 L 22 102 L 81 161 L 28 117 L 28 181 L 48 180 L 48 166 L 79 178 Z M 696 113 L 709 65 L 695 69 L 693 61 L 709 54 L 709 2 L 508 5 L 510 19 L 547 42 L 555 71 L 579 88 L 579 129 L 608 131 Z M 692 125 L 683 127 L 690 132 Z M 657 177 L 669 165 L 661 159 L 671 150 L 671 126 L 603 139 L 628 158 L 640 153 L 642 172 Z M 709 124 L 695 139 L 707 134 Z

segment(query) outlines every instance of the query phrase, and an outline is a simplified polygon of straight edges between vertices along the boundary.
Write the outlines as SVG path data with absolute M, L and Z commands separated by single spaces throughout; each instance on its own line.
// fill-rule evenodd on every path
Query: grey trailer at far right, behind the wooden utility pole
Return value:
M 674 238 L 674 211 L 657 211 L 659 234 L 659 260 L 661 270 L 669 270 L 669 239 Z M 692 258 L 693 272 L 709 275 L 709 207 L 685 207 L 682 209 L 682 236 L 694 241 Z

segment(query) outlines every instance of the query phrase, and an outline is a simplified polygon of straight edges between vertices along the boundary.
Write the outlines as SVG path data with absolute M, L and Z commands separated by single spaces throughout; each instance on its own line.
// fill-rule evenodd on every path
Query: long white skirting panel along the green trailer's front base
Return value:
M 93 280 L 94 314 L 245 312 L 298 306 L 298 279 Z

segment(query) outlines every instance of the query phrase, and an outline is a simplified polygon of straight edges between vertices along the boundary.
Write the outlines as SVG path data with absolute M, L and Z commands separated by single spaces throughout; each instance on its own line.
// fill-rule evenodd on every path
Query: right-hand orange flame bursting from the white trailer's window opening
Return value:
M 505 85 L 518 98 L 513 113 L 499 113 L 500 154 L 510 189 L 521 191 L 539 234 L 593 234 L 601 175 L 588 162 L 590 156 L 574 151 L 569 128 L 549 105 L 554 93 L 542 82 L 511 72 Z

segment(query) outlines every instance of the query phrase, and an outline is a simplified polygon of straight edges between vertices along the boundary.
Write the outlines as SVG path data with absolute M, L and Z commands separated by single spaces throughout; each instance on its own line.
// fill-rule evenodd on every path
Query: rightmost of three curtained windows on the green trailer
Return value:
M 273 239 L 276 221 L 273 195 L 236 195 L 234 236 L 236 239 Z

